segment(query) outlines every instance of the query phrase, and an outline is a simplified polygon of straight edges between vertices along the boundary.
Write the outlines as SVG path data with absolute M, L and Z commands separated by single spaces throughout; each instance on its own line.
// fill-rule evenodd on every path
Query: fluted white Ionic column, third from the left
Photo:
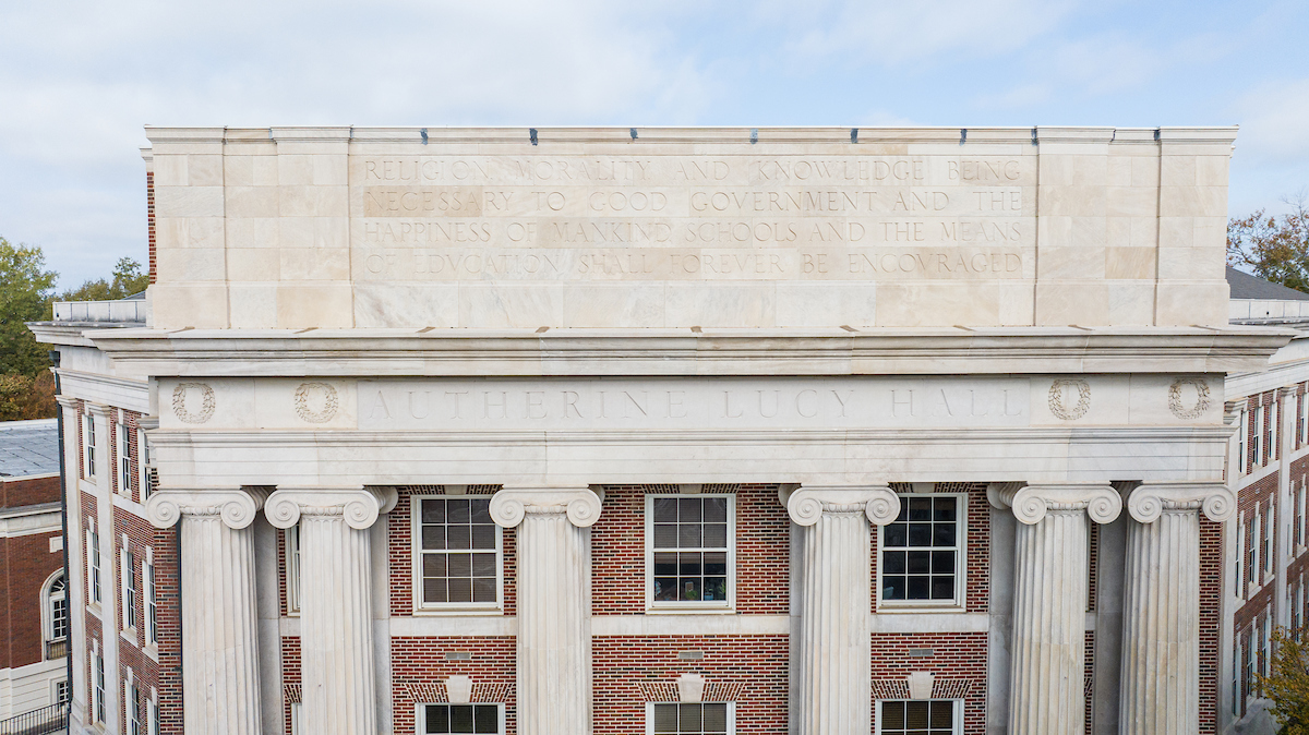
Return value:
M 518 732 L 590 732 L 590 530 L 601 498 L 588 488 L 505 488 L 491 518 L 518 527 Z

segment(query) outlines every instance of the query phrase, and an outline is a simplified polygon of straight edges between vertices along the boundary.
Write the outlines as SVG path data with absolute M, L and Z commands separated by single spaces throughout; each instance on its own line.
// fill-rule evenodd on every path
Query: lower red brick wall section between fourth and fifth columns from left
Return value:
M 923 649 L 931 649 L 932 655 L 920 655 Z M 986 666 L 986 633 L 874 633 L 873 698 L 877 700 L 878 681 L 898 684 L 915 671 L 928 671 L 936 676 L 937 689 L 946 681 L 967 688 L 962 697 L 963 732 L 984 735 Z

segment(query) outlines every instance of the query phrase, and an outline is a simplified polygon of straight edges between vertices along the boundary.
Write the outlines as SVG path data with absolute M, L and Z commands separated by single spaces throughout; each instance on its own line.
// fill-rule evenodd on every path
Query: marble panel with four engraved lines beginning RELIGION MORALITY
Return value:
M 1034 157 L 356 157 L 365 279 L 1031 277 Z

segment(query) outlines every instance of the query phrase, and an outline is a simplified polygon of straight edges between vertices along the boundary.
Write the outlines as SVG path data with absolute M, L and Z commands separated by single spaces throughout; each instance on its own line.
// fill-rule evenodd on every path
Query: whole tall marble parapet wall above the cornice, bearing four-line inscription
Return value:
M 149 128 L 162 328 L 1224 326 L 1234 128 Z

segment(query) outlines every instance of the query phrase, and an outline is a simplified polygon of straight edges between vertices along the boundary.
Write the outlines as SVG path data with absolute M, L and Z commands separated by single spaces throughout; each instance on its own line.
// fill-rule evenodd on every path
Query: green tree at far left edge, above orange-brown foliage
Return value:
M 46 271 L 39 247 L 10 245 L 0 237 L 0 373 L 34 378 L 50 366 L 25 322 L 50 319 L 58 273 Z

